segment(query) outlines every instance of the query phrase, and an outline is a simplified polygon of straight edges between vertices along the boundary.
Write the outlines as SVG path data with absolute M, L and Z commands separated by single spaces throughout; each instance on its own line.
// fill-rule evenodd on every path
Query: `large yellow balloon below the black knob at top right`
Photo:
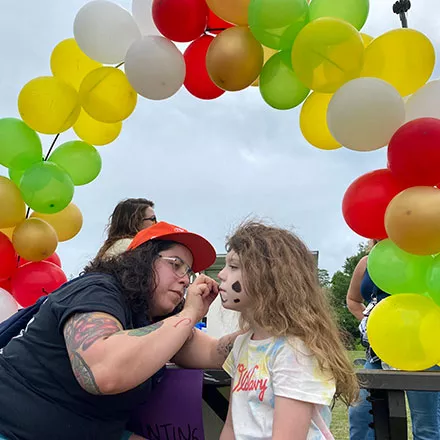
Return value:
M 428 81 L 434 65 L 434 47 L 424 34 L 414 29 L 395 29 L 368 45 L 361 76 L 383 79 L 407 96 Z

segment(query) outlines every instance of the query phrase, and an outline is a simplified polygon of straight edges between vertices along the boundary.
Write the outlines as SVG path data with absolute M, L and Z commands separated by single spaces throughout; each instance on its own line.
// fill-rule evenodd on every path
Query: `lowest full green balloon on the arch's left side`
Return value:
M 20 182 L 25 203 L 42 214 L 55 214 L 73 199 L 75 187 L 70 176 L 52 162 L 41 162 L 28 168 Z

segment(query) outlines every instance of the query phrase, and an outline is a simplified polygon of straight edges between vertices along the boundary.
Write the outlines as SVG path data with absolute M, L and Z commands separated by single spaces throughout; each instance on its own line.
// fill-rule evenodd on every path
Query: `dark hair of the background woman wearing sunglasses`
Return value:
M 148 199 L 125 199 L 113 210 L 107 225 L 107 238 L 99 249 L 99 260 L 121 238 L 133 238 L 142 228 L 142 220 L 147 208 L 154 208 L 154 202 Z

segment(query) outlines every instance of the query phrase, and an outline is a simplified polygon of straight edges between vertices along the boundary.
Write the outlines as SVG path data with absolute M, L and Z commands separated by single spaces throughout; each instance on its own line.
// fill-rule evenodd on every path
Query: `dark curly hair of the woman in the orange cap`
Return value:
M 112 258 L 95 258 L 83 270 L 87 273 L 105 273 L 112 275 L 127 299 L 133 312 L 145 313 L 150 319 L 150 304 L 157 287 L 154 263 L 162 251 L 178 243 L 168 240 L 150 240 L 135 249 Z M 183 307 L 179 305 L 171 314 Z

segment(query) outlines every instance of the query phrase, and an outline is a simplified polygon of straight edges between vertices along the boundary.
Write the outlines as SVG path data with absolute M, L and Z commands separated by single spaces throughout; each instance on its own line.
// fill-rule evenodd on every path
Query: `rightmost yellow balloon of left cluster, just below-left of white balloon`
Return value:
M 115 67 L 91 71 L 81 83 L 79 97 L 93 119 L 109 124 L 127 119 L 137 103 L 136 91 L 125 73 Z

